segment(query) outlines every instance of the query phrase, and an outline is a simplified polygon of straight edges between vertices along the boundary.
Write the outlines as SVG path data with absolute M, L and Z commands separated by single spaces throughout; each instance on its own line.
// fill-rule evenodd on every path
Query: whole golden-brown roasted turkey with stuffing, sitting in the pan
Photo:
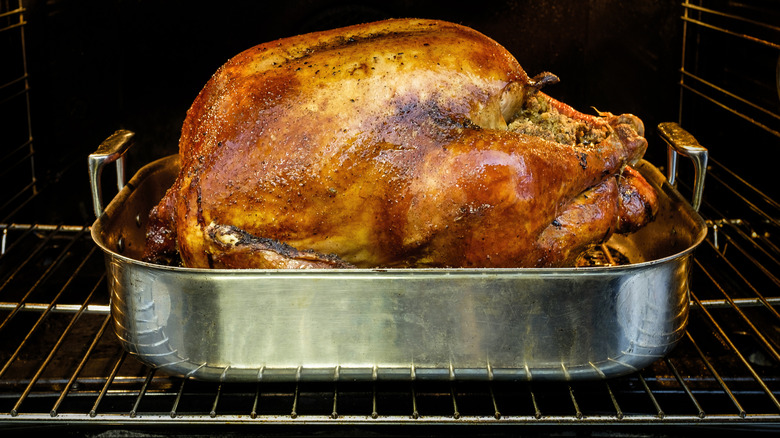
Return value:
M 616 231 L 619 187 L 635 184 L 618 178 L 646 141 L 633 116 L 587 116 L 538 91 L 551 78 L 529 78 L 493 40 L 441 21 L 251 48 L 189 110 L 182 170 L 151 213 L 146 257 L 178 252 L 207 268 L 570 263 Z M 528 117 L 560 132 L 521 126 Z

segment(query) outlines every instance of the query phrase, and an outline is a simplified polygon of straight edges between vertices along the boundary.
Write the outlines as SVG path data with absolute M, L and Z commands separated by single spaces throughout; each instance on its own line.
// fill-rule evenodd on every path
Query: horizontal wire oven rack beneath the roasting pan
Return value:
M 701 212 L 710 229 L 696 251 L 678 347 L 629 376 L 570 383 L 167 376 L 128 357 L 115 338 L 89 226 L 2 224 L 0 425 L 778 428 L 780 206 L 712 160 Z

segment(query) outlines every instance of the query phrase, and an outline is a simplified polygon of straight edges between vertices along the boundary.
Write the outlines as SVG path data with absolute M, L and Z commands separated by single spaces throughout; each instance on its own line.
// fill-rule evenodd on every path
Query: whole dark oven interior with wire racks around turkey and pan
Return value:
M 137 133 L 128 174 L 176 152 L 187 107 L 240 50 L 398 16 L 463 23 L 578 109 L 675 121 L 709 149 L 688 331 L 594 382 L 182 380 L 120 347 L 86 157 Z M 0 427 L 207 434 L 614 434 L 780 429 L 780 8 L 769 0 L 152 2 L 0 0 Z M 690 196 L 680 159 L 678 189 Z M 110 172 L 107 172 L 110 173 Z M 107 175 L 110 181 L 113 175 Z M 107 182 L 104 187 L 111 187 Z M 104 193 L 110 197 L 109 192 Z M 401 427 L 410 426 L 410 427 Z M 461 427 L 457 427 L 461 426 Z M 469 426 L 469 427 L 462 427 Z M 212 430 L 213 428 L 213 430 Z M 295 431 L 295 432 L 291 432 Z

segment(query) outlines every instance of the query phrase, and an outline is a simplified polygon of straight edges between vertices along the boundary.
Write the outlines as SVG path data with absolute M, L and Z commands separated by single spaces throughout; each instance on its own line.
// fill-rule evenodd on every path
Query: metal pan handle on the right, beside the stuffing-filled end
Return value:
M 677 183 L 677 154 L 688 157 L 693 162 L 693 199 L 691 206 L 699 211 L 702 194 L 704 193 L 704 176 L 707 173 L 707 158 L 709 152 L 700 145 L 688 131 L 682 129 L 674 122 L 665 122 L 658 125 L 661 138 L 669 145 L 667 150 L 668 169 L 666 179 L 673 187 Z

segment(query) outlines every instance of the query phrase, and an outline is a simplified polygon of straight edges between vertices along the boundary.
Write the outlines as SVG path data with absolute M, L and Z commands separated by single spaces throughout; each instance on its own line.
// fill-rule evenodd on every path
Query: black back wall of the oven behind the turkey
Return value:
M 27 8 L 39 176 L 74 162 L 80 169 L 119 128 L 138 136 L 132 174 L 176 152 L 188 106 L 231 56 L 280 37 L 390 17 L 474 27 L 515 54 L 529 75 L 557 74 L 561 82 L 546 89 L 554 97 L 586 112 L 637 114 L 654 163 L 665 156 L 655 126 L 677 120 L 678 0 L 35 0 Z M 71 191 L 88 193 L 85 172 L 75 175 Z M 57 213 L 75 216 L 62 220 L 90 220 L 89 198 L 82 198 L 72 213 Z

